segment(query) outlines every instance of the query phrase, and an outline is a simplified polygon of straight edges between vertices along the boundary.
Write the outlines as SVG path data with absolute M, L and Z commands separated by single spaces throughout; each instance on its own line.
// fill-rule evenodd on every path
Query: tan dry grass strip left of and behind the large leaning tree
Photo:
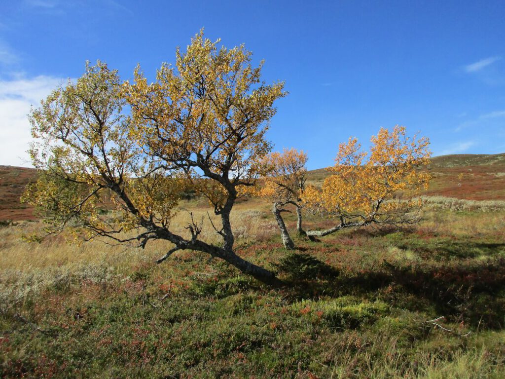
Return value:
M 231 223 L 238 245 L 265 241 L 277 233 L 275 221 L 266 212 L 247 209 L 244 206 L 237 208 L 231 214 Z M 191 212 L 195 221 L 203 220 L 201 239 L 219 244 L 220 236 L 213 229 L 207 210 L 196 208 Z M 217 216 L 212 214 L 211 218 L 216 226 L 219 225 Z M 187 237 L 188 230 L 185 226 L 189 221 L 188 211 L 181 210 L 174 217 L 171 230 Z M 13 226 L 0 228 L 0 269 L 32 271 L 48 267 L 105 265 L 115 267 L 118 273 L 122 273 L 132 265 L 153 262 L 172 247 L 166 241 L 152 241 L 145 249 L 139 249 L 133 244 L 110 245 L 111 241 L 107 239 L 75 245 L 69 244 L 63 236 L 54 236 L 41 243 L 27 242 L 22 238 L 23 235 L 32 234 L 43 226 L 39 221 L 20 221 Z

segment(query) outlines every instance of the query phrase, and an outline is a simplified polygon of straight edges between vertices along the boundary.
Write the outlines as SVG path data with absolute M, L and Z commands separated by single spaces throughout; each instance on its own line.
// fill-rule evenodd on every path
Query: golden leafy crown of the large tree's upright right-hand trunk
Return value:
M 286 94 L 283 83 L 261 82 L 262 64 L 252 67 L 243 45 L 218 49 L 218 42 L 200 31 L 184 53 L 177 50 L 175 68 L 163 64 L 149 84 L 137 67 L 122 87 L 141 149 L 188 176 L 217 180 L 199 189 L 214 205 L 224 201 L 220 186 L 233 192 L 258 175 L 271 149 L 265 132 L 273 103 Z

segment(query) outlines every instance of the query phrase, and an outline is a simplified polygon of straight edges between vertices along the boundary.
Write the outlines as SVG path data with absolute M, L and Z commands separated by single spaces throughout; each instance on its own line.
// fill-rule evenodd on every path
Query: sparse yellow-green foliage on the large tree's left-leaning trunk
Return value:
M 123 114 L 120 85 L 117 72 L 105 63 L 88 62 L 76 83 L 57 88 L 31 112 L 37 138 L 31 156 L 40 178 L 25 200 L 43 212 L 53 231 L 72 224 L 87 239 L 113 230 L 117 220 L 123 230 L 134 227 L 139 213 L 153 209 L 143 198 L 133 201 L 139 211 L 132 213 L 127 198 L 120 199 L 119 194 L 135 188 L 132 182 L 140 183 L 132 176 L 146 164 L 130 133 L 131 120 Z M 164 201 L 173 207 L 171 199 Z

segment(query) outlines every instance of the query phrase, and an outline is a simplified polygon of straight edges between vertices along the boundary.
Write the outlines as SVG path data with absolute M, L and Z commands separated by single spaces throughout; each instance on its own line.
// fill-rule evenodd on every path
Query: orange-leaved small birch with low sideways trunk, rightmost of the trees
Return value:
M 381 128 L 371 138 L 370 153 L 356 138 L 340 144 L 335 165 L 321 189 L 306 188 L 303 201 L 312 212 L 337 220 L 325 230 L 308 230 L 310 238 L 369 224 L 409 224 L 418 220 L 421 201 L 414 197 L 431 178 L 420 169 L 429 162 L 429 140 L 407 136 L 406 128 Z

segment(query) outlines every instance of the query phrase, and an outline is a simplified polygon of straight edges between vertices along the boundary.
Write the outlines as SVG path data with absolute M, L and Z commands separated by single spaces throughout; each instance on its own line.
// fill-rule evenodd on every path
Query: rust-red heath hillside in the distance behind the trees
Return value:
M 505 153 L 442 155 L 431 159 L 428 170 L 434 175 L 428 196 L 505 200 Z M 308 182 L 320 184 L 328 174 L 325 168 L 310 170 Z M 19 199 L 36 177 L 34 168 L 0 166 L 0 220 L 35 219 L 33 208 Z

